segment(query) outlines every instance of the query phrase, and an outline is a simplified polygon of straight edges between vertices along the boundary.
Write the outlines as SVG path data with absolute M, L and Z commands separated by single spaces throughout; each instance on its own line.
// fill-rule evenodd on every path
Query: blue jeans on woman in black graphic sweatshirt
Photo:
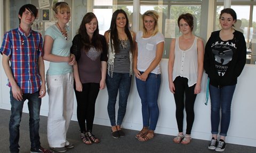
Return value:
M 221 88 L 209 85 L 212 134 L 218 134 L 220 123 L 220 135 L 227 136 L 230 122 L 230 107 L 235 88 L 236 85 L 223 86 Z

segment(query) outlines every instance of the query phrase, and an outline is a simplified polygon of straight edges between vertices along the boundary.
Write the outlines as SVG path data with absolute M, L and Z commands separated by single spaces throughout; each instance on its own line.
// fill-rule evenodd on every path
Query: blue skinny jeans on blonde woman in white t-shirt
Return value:
M 149 127 L 149 130 L 156 129 L 159 116 L 157 99 L 160 84 L 161 74 L 150 73 L 146 81 L 136 78 L 137 90 L 141 99 L 143 126 Z

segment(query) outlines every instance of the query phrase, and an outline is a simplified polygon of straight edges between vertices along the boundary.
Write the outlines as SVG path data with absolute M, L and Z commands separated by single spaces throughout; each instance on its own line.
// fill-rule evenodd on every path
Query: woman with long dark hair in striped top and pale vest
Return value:
M 108 115 L 113 138 L 124 136 L 121 124 L 126 112 L 131 87 L 132 53 L 135 34 L 129 30 L 129 20 L 124 10 L 116 10 L 105 38 L 108 44 L 106 85 L 108 89 Z M 119 108 L 116 121 L 116 97 L 119 91 Z

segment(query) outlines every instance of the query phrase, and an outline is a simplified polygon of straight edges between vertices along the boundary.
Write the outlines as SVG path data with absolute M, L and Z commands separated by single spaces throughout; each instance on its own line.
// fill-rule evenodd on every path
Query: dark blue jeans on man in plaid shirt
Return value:
M 41 98 L 38 98 L 39 92 L 25 93 L 22 95 L 22 101 L 18 101 L 13 97 L 12 90 L 10 91 L 11 99 L 11 117 L 9 123 L 10 132 L 10 152 L 19 152 L 19 138 L 20 138 L 20 121 L 22 116 L 22 109 L 24 101 L 28 100 L 29 110 L 29 135 L 31 148 L 38 149 L 41 145 L 39 137 L 39 114 L 41 107 Z

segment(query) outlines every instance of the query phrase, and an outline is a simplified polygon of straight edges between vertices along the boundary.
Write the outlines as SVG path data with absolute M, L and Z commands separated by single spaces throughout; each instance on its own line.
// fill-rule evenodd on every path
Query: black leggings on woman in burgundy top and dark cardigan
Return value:
M 99 83 L 84 83 L 82 92 L 76 91 L 75 87 L 77 101 L 77 120 L 81 132 L 92 132 L 92 125 L 95 114 L 95 102 L 99 93 L 99 88 Z

